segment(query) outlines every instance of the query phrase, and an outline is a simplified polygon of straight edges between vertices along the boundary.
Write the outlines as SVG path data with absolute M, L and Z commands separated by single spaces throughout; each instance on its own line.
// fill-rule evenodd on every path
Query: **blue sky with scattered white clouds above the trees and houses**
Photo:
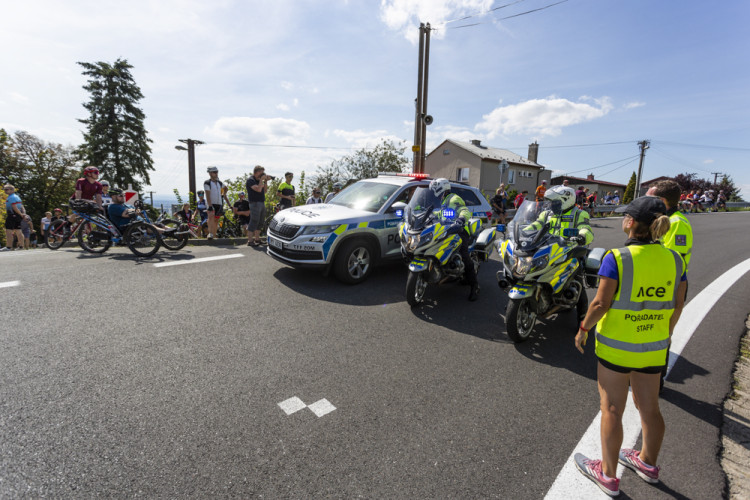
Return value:
M 187 191 L 174 149 L 187 137 L 206 142 L 199 179 L 207 165 L 311 175 L 380 138 L 411 145 L 423 21 L 436 28 L 429 150 L 481 139 L 526 156 L 538 141 L 556 173 L 627 182 L 649 139 L 645 179 L 722 172 L 750 198 L 750 2 L 568 0 L 502 19 L 555 1 L 14 2 L 0 127 L 80 143 L 75 63 L 122 57 L 145 95 L 157 196 Z

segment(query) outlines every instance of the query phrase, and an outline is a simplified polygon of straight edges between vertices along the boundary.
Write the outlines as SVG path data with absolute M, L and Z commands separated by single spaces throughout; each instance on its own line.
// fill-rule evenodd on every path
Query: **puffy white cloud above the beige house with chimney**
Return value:
M 558 136 L 564 127 L 605 116 L 612 110 L 609 97 L 583 96 L 579 102 L 555 96 L 495 108 L 482 117 L 475 130 L 488 139 L 512 134 Z

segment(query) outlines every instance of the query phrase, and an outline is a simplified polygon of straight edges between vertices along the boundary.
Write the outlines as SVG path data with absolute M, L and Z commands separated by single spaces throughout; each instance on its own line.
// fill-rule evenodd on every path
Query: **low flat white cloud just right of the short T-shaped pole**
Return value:
M 205 133 L 233 142 L 302 145 L 310 135 L 310 125 L 291 118 L 232 116 L 219 118 Z

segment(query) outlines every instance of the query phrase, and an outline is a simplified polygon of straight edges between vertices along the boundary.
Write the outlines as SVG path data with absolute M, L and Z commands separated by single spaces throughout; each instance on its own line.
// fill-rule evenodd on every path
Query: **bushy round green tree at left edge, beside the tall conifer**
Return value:
M 39 229 L 45 212 L 70 198 L 80 170 L 71 146 L 46 142 L 23 131 L 10 136 L 0 129 L 0 178 L 15 186 L 34 228 Z

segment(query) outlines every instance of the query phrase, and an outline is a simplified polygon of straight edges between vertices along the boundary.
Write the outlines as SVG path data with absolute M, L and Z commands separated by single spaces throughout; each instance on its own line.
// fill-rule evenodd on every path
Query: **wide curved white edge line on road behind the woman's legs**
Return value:
M 745 273 L 750 271 L 750 259 L 740 262 L 729 271 L 716 278 L 710 285 L 704 288 L 693 300 L 685 306 L 680 315 L 680 321 L 675 325 L 672 334 L 672 345 L 669 349 L 669 364 L 667 376 L 672 370 L 677 359 L 679 359 L 682 350 L 687 345 L 690 337 L 706 317 L 706 314 L 713 308 L 716 302 L 732 287 Z M 601 457 L 601 411 L 596 415 L 594 421 L 583 434 L 583 437 L 576 445 L 573 453 L 568 457 L 560 474 L 558 474 L 552 487 L 544 498 L 602 498 L 602 493 L 596 485 L 583 477 L 578 472 L 573 460 L 576 453 L 583 453 L 589 458 Z M 622 416 L 623 428 L 623 448 L 632 448 L 638 441 L 641 434 L 641 420 L 638 410 L 635 409 L 632 398 L 628 397 L 628 404 L 625 406 L 625 412 Z M 624 468 L 622 465 L 617 467 L 617 477 L 622 477 Z

